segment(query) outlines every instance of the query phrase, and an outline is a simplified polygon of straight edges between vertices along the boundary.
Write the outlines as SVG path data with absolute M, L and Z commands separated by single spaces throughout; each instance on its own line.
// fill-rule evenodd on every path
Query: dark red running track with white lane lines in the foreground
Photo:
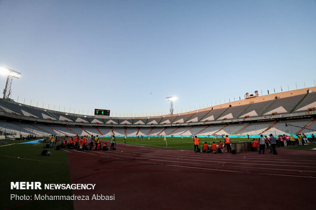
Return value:
M 116 151 L 68 150 L 73 183 L 96 184 L 75 195 L 75 209 L 315 209 L 316 152 L 193 151 L 117 144 Z M 267 151 L 266 151 L 267 152 Z

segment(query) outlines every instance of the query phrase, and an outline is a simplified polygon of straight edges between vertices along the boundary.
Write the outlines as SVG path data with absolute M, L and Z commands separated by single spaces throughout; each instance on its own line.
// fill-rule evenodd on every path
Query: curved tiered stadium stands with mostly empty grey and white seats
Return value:
M 12 137 L 68 135 L 312 134 L 316 87 L 252 97 L 180 114 L 150 117 L 89 116 L 0 100 L 0 131 Z

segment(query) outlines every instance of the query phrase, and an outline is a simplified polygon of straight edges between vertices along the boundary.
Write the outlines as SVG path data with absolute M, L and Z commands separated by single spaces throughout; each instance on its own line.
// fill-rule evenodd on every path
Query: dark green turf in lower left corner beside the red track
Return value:
M 9 141 L 13 145 L 0 144 L 0 206 L 1 209 L 11 208 L 24 203 L 25 200 L 10 200 L 10 194 L 32 195 L 47 193 L 44 184 L 70 183 L 67 152 L 47 149 L 52 156 L 41 156 L 43 146 L 39 144 L 19 144 L 18 141 Z M 10 182 L 41 182 L 43 190 L 10 190 Z M 72 195 L 71 190 L 59 190 L 49 195 Z M 73 209 L 71 200 L 35 200 L 21 205 L 17 209 Z

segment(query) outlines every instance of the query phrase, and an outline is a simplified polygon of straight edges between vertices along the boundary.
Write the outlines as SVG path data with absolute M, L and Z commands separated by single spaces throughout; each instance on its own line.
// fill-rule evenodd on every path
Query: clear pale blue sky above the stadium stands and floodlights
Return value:
M 0 65 L 22 73 L 15 101 L 81 114 L 165 114 L 167 96 L 184 112 L 314 86 L 316 1 L 0 0 Z

